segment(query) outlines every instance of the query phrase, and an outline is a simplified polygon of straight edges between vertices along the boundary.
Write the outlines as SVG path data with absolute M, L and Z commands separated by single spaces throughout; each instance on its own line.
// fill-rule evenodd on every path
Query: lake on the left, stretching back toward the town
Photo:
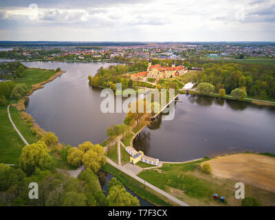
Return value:
M 47 83 L 30 96 L 26 111 L 45 131 L 56 133 L 60 142 L 77 146 L 85 141 L 94 144 L 106 139 L 106 129 L 121 124 L 125 113 L 102 113 L 100 89 L 92 89 L 88 76 L 114 63 L 28 62 L 28 67 L 56 69 L 66 73 Z

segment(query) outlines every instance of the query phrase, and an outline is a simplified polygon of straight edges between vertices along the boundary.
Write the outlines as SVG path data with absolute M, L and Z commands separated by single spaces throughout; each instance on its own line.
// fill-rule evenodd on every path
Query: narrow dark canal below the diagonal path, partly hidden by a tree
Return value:
M 113 177 L 114 176 L 111 175 L 110 173 L 105 173 L 105 172 L 100 171 L 100 175 L 99 175 L 100 185 L 101 185 L 101 188 L 102 188 L 105 196 L 107 196 L 109 181 L 111 181 L 111 178 L 113 178 Z M 140 198 L 138 195 L 135 194 L 135 192 L 133 192 L 132 190 L 130 190 L 126 186 L 124 186 L 124 187 L 125 187 L 127 192 L 129 192 L 129 193 L 131 193 L 131 195 L 137 197 L 137 199 L 140 201 L 140 206 L 153 206 L 153 204 L 151 204 L 148 201 Z

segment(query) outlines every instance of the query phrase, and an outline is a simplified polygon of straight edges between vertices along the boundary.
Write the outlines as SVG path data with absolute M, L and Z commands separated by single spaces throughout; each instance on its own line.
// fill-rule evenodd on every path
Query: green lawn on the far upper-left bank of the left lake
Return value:
M 28 68 L 25 70 L 25 74 L 25 77 L 14 80 L 14 83 L 25 83 L 30 89 L 32 85 L 48 80 L 51 76 L 54 76 L 56 72 L 53 69 Z

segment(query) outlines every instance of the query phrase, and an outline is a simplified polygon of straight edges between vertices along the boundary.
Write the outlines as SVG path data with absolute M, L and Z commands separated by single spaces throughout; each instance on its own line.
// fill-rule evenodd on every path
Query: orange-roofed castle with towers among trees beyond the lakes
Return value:
M 172 67 L 162 67 L 161 65 L 152 65 L 151 58 L 148 62 L 147 72 L 140 72 L 133 74 L 131 76 L 132 80 L 137 80 L 139 78 L 172 78 L 174 76 L 179 76 L 187 72 L 187 68 L 183 66 L 175 66 L 175 61 L 173 61 Z

